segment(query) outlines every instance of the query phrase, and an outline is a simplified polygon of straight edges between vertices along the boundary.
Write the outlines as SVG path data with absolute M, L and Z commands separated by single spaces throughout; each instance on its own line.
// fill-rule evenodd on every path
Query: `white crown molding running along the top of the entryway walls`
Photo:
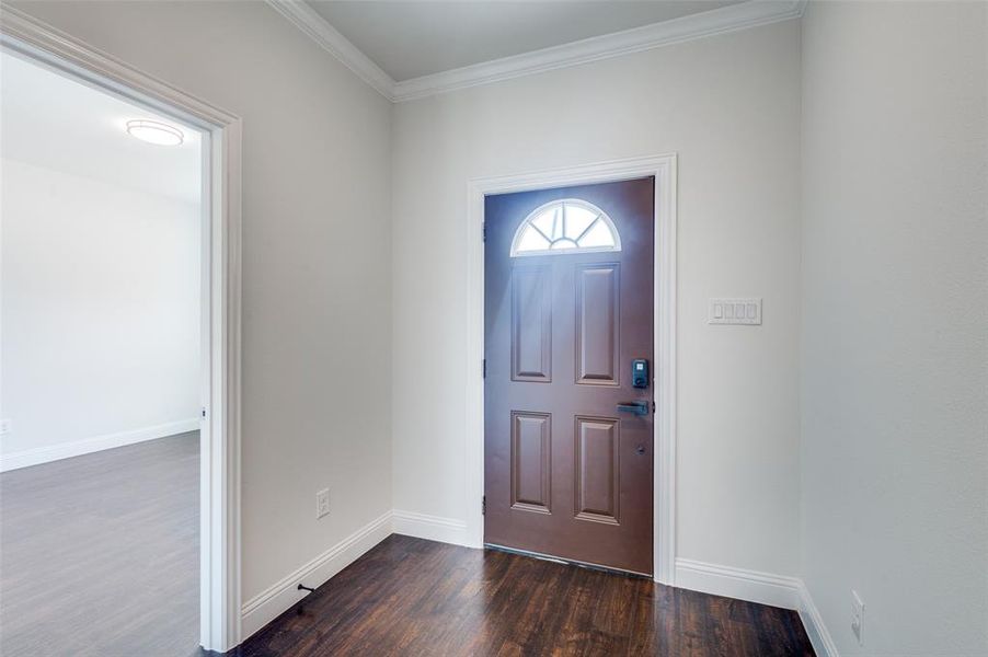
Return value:
M 301 0 L 266 1 L 384 97 L 400 103 L 796 19 L 803 15 L 808 0 L 749 0 L 671 21 L 594 36 L 401 82 L 392 80 Z

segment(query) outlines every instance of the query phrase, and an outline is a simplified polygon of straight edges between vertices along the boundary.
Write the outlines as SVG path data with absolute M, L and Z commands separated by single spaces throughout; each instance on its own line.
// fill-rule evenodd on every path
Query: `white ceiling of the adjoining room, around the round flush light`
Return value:
M 179 127 L 181 146 L 146 143 L 126 123 Z M 197 203 L 202 138 L 181 125 L 62 74 L 0 54 L 0 157 Z

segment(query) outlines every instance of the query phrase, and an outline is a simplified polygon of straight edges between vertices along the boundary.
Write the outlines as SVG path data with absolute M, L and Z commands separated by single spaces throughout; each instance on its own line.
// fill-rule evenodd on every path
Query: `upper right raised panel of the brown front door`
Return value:
M 576 268 L 576 382 L 618 385 L 619 267 Z

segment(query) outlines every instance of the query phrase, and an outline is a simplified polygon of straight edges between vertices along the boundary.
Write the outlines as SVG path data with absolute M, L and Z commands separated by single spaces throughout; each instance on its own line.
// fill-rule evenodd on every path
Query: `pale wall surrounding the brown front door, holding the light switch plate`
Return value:
M 463 495 L 467 181 L 675 151 L 678 556 L 795 574 L 799 122 L 797 21 L 397 105 L 395 509 L 480 506 Z M 708 325 L 716 296 L 763 297 L 765 324 Z

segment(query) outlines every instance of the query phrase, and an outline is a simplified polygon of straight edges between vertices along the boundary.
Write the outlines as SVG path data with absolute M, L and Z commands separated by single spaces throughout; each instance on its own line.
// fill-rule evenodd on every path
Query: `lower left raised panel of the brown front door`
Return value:
M 552 416 L 512 413 L 512 508 L 550 512 Z

